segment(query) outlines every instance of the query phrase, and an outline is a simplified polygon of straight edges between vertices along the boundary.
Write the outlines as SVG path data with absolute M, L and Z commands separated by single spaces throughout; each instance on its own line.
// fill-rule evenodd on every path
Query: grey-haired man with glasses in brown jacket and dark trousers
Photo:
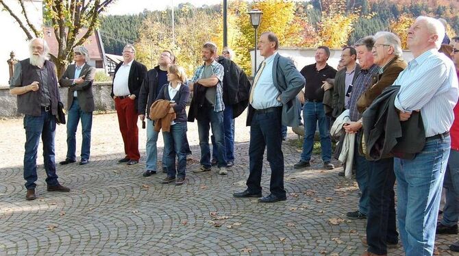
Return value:
M 378 32 L 373 46 L 375 64 L 382 68 L 376 83 L 369 87 L 357 101 L 360 113 L 371 105 L 384 88 L 391 86 L 407 64 L 401 59 L 401 43 L 395 34 Z M 363 127 L 371 129 L 371 127 Z M 367 238 L 362 242 L 368 250 L 362 255 L 387 255 L 387 247 L 398 243 L 395 227 L 394 161 L 393 157 L 370 161 L 368 173 L 369 209 L 367 214 Z

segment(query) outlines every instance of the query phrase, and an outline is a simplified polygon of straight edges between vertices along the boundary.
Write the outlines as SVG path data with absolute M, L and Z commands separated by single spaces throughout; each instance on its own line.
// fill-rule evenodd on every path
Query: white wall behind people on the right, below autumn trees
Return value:
M 303 68 L 306 65 L 315 63 L 316 62 L 314 58 L 315 53 L 316 53 L 315 48 L 314 49 L 295 49 L 295 48 L 280 48 L 279 49 L 280 55 L 284 57 L 292 57 L 293 60 L 295 60 L 295 64 L 298 70 L 301 70 L 301 68 Z M 250 55 L 251 55 L 252 73 L 253 73 L 253 62 L 254 62 L 253 50 L 250 51 Z M 333 68 L 336 68 L 336 66 L 338 66 L 340 57 L 341 57 L 341 49 L 330 49 L 330 58 L 328 59 L 327 63 Z M 410 60 L 413 59 L 413 55 L 411 51 L 404 51 L 403 57 L 406 60 L 406 62 L 409 62 Z M 260 55 L 260 51 L 257 51 L 257 68 L 263 60 L 264 60 L 264 57 Z

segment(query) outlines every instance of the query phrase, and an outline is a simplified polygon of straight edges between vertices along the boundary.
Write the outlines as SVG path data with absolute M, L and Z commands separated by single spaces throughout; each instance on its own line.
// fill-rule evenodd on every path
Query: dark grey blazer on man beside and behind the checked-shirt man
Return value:
M 352 84 L 356 81 L 358 73 L 360 72 L 359 64 L 356 64 L 356 71 L 354 71 Z M 341 69 L 336 73 L 335 83 L 333 88 L 333 112 L 332 116 L 337 118 L 343 111 L 345 111 L 345 88 L 346 88 L 346 68 Z

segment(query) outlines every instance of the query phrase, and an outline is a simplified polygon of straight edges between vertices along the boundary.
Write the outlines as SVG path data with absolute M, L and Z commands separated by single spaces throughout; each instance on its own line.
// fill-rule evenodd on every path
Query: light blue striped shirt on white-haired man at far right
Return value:
M 458 101 L 458 77 L 453 62 L 430 49 L 408 63 L 394 81 L 401 86 L 395 107 L 404 112 L 421 110 L 425 136 L 449 131 Z

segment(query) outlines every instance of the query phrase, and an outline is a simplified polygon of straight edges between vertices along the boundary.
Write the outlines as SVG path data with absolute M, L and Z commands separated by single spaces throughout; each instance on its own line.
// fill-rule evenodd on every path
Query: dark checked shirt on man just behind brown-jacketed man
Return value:
M 376 83 L 377 74 L 380 73 L 380 69 L 379 66 L 373 64 L 371 68 L 361 69 L 360 72 L 356 74 L 358 77 L 356 81 L 354 81 L 351 99 L 349 99 L 349 114 L 352 122 L 356 122 L 362 118 L 362 114 L 357 110 L 357 101 L 365 90 Z

